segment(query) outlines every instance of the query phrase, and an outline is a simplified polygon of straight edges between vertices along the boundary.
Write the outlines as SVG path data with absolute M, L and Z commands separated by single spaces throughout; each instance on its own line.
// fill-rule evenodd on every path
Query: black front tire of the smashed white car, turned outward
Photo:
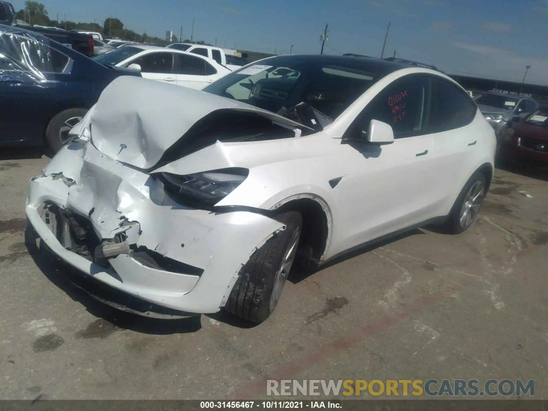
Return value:
M 249 258 L 238 273 L 225 306 L 232 314 L 254 323 L 265 321 L 276 307 L 278 300 L 271 307 L 276 275 L 290 243 L 295 241 L 294 235 L 299 235 L 302 226 L 302 217 L 297 212 L 279 214 L 276 220 L 286 224 L 286 229 L 270 238 Z

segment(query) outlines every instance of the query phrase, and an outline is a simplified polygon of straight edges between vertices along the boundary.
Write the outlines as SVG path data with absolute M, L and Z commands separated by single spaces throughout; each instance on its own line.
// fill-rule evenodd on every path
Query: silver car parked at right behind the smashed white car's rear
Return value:
M 513 117 L 523 118 L 539 107 L 539 104 L 529 97 L 499 92 L 481 93 L 473 99 L 483 117 L 494 128 L 497 139 Z

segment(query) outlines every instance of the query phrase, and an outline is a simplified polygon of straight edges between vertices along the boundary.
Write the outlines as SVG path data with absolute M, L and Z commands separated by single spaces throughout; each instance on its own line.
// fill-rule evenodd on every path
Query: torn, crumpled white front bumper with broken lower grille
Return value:
M 89 142 L 64 147 L 30 181 L 28 221 L 77 270 L 162 307 L 213 313 L 238 272 L 280 222 L 182 206 L 142 170 Z

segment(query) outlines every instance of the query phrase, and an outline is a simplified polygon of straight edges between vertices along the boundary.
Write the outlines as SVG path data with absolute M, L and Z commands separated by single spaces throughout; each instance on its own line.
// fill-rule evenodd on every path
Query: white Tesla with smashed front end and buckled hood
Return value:
M 446 75 L 327 55 L 275 56 L 202 90 L 120 77 L 71 134 L 29 184 L 49 252 L 150 307 L 253 322 L 294 260 L 434 222 L 466 230 L 496 145 Z

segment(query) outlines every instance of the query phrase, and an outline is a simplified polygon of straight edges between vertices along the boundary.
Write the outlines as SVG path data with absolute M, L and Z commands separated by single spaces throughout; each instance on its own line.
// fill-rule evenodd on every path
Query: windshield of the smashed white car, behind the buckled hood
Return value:
M 327 116 L 329 123 L 381 77 L 356 60 L 330 62 L 305 56 L 272 57 L 239 68 L 202 91 L 281 115 L 304 103 Z

